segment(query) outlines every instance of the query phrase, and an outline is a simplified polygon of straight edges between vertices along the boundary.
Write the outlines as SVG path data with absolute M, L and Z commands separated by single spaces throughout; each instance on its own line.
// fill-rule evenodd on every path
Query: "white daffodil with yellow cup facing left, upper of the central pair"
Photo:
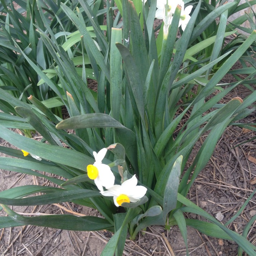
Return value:
M 115 182 L 115 176 L 110 167 L 102 163 L 107 151 L 106 148 L 102 148 L 98 154 L 94 151 L 95 162 L 93 165 L 87 166 L 88 177 L 94 180 L 95 185 L 100 191 L 103 191 L 103 187 L 113 186 Z

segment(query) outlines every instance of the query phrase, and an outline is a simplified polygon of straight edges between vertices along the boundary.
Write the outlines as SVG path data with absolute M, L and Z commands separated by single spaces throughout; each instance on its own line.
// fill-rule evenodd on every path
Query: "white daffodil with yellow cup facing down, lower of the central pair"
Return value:
M 121 206 L 122 203 L 136 203 L 145 196 L 147 189 L 143 186 L 137 186 L 137 178 L 135 175 L 131 179 L 122 183 L 122 185 L 114 185 L 106 187 L 107 191 L 101 191 L 103 196 L 113 197 L 115 205 Z

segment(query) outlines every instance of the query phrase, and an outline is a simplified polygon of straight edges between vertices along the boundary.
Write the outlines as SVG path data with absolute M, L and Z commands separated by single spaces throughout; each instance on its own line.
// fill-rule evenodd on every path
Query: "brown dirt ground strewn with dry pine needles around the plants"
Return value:
M 226 78 L 228 82 L 229 78 Z M 230 82 L 230 81 L 229 81 Z M 246 97 L 250 91 L 237 87 L 226 101 L 233 97 Z M 255 115 L 243 120 L 255 123 Z M 256 145 L 254 141 L 233 148 L 233 146 L 254 138 L 255 132 L 245 132 L 241 128 L 230 126 L 219 140 L 208 163 L 190 189 L 188 198 L 213 216 L 221 212 L 223 223 L 228 221 L 243 205 L 255 189 L 256 179 Z M 196 156 L 204 138 L 195 145 L 190 161 Z M 12 147 L 0 140 L 0 144 Z M 251 158 L 250 158 L 250 157 Z M 250 161 L 251 160 L 251 161 Z M 254 162 L 253 162 L 254 161 Z M 189 162 L 187 165 L 189 166 Z M 0 190 L 28 184 L 47 184 L 43 179 L 29 175 L 0 171 Z M 33 214 L 80 214 L 98 215 L 96 210 L 81 207 L 72 203 L 43 205 L 37 207 L 13 207 L 16 212 Z M 32 214 L 31 214 L 32 213 Z M 248 203 L 242 214 L 228 227 L 242 233 L 246 223 L 256 214 L 255 197 Z M 0 215 L 5 215 L 3 211 Z M 200 219 L 196 214 L 188 217 Z M 256 222 L 251 226 L 247 239 L 256 244 Z M 237 245 L 232 241 L 207 237 L 197 230 L 188 227 L 188 247 L 190 256 L 236 256 Z M 0 229 L 0 256 L 84 256 L 100 255 L 111 233 L 105 231 L 67 231 L 36 226 L 23 226 Z M 128 237 L 127 237 L 128 238 Z M 172 252 L 173 251 L 173 252 Z M 185 255 L 185 244 L 179 229 L 175 226 L 165 230 L 161 226 L 148 228 L 140 233 L 136 241 L 126 241 L 124 255 Z

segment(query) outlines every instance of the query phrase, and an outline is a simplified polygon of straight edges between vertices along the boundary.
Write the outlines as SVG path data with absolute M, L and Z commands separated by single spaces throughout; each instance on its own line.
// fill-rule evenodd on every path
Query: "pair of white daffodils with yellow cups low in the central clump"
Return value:
M 135 175 L 131 179 L 126 180 L 121 185 L 114 185 L 115 176 L 110 167 L 102 163 L 107 152 L 106 148 L 102 148 L 98 152 L 93 152 L 95 162 L 93 165 L 87 166 L 87 174 L 91 180 L 94 180 L 95 185 L 100 190 L 103 196 L 112 196 L 115 205 L 118 207 L 122 203 L 136 203 L 142 198 L 147 189 L 143 186 L 137 186 L 138 180 Z M 104 191 L 103 187 L 107 190 Z

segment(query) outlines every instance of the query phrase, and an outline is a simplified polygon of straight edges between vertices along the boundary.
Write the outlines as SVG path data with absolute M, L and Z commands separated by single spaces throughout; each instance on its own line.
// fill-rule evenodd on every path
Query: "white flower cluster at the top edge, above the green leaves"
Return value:
M 145 4 L 145 2 L 146 2 L 146 0 L 144 0 L 144 4 Z M 184 31 L 189 22 L 189 19 L 190 19 L 189 14 L 190 14 L 193 6 L 188 5 L 184 9 L 184 2 L 182 0 L 157 0 L 157 2 L 156 2 L 156 7 L 157 7 L 156 18 L 162 19 L 166 25 L 171 24 L 172 14 L 175 12 L 177 5 L 181 6 L 181 16 L 180 16 L 179 27 L 181 26 L 182 30 Z M 167 7 L 168 8 L 167 16 L 166 16 L 166 6 L 168 6 Z

